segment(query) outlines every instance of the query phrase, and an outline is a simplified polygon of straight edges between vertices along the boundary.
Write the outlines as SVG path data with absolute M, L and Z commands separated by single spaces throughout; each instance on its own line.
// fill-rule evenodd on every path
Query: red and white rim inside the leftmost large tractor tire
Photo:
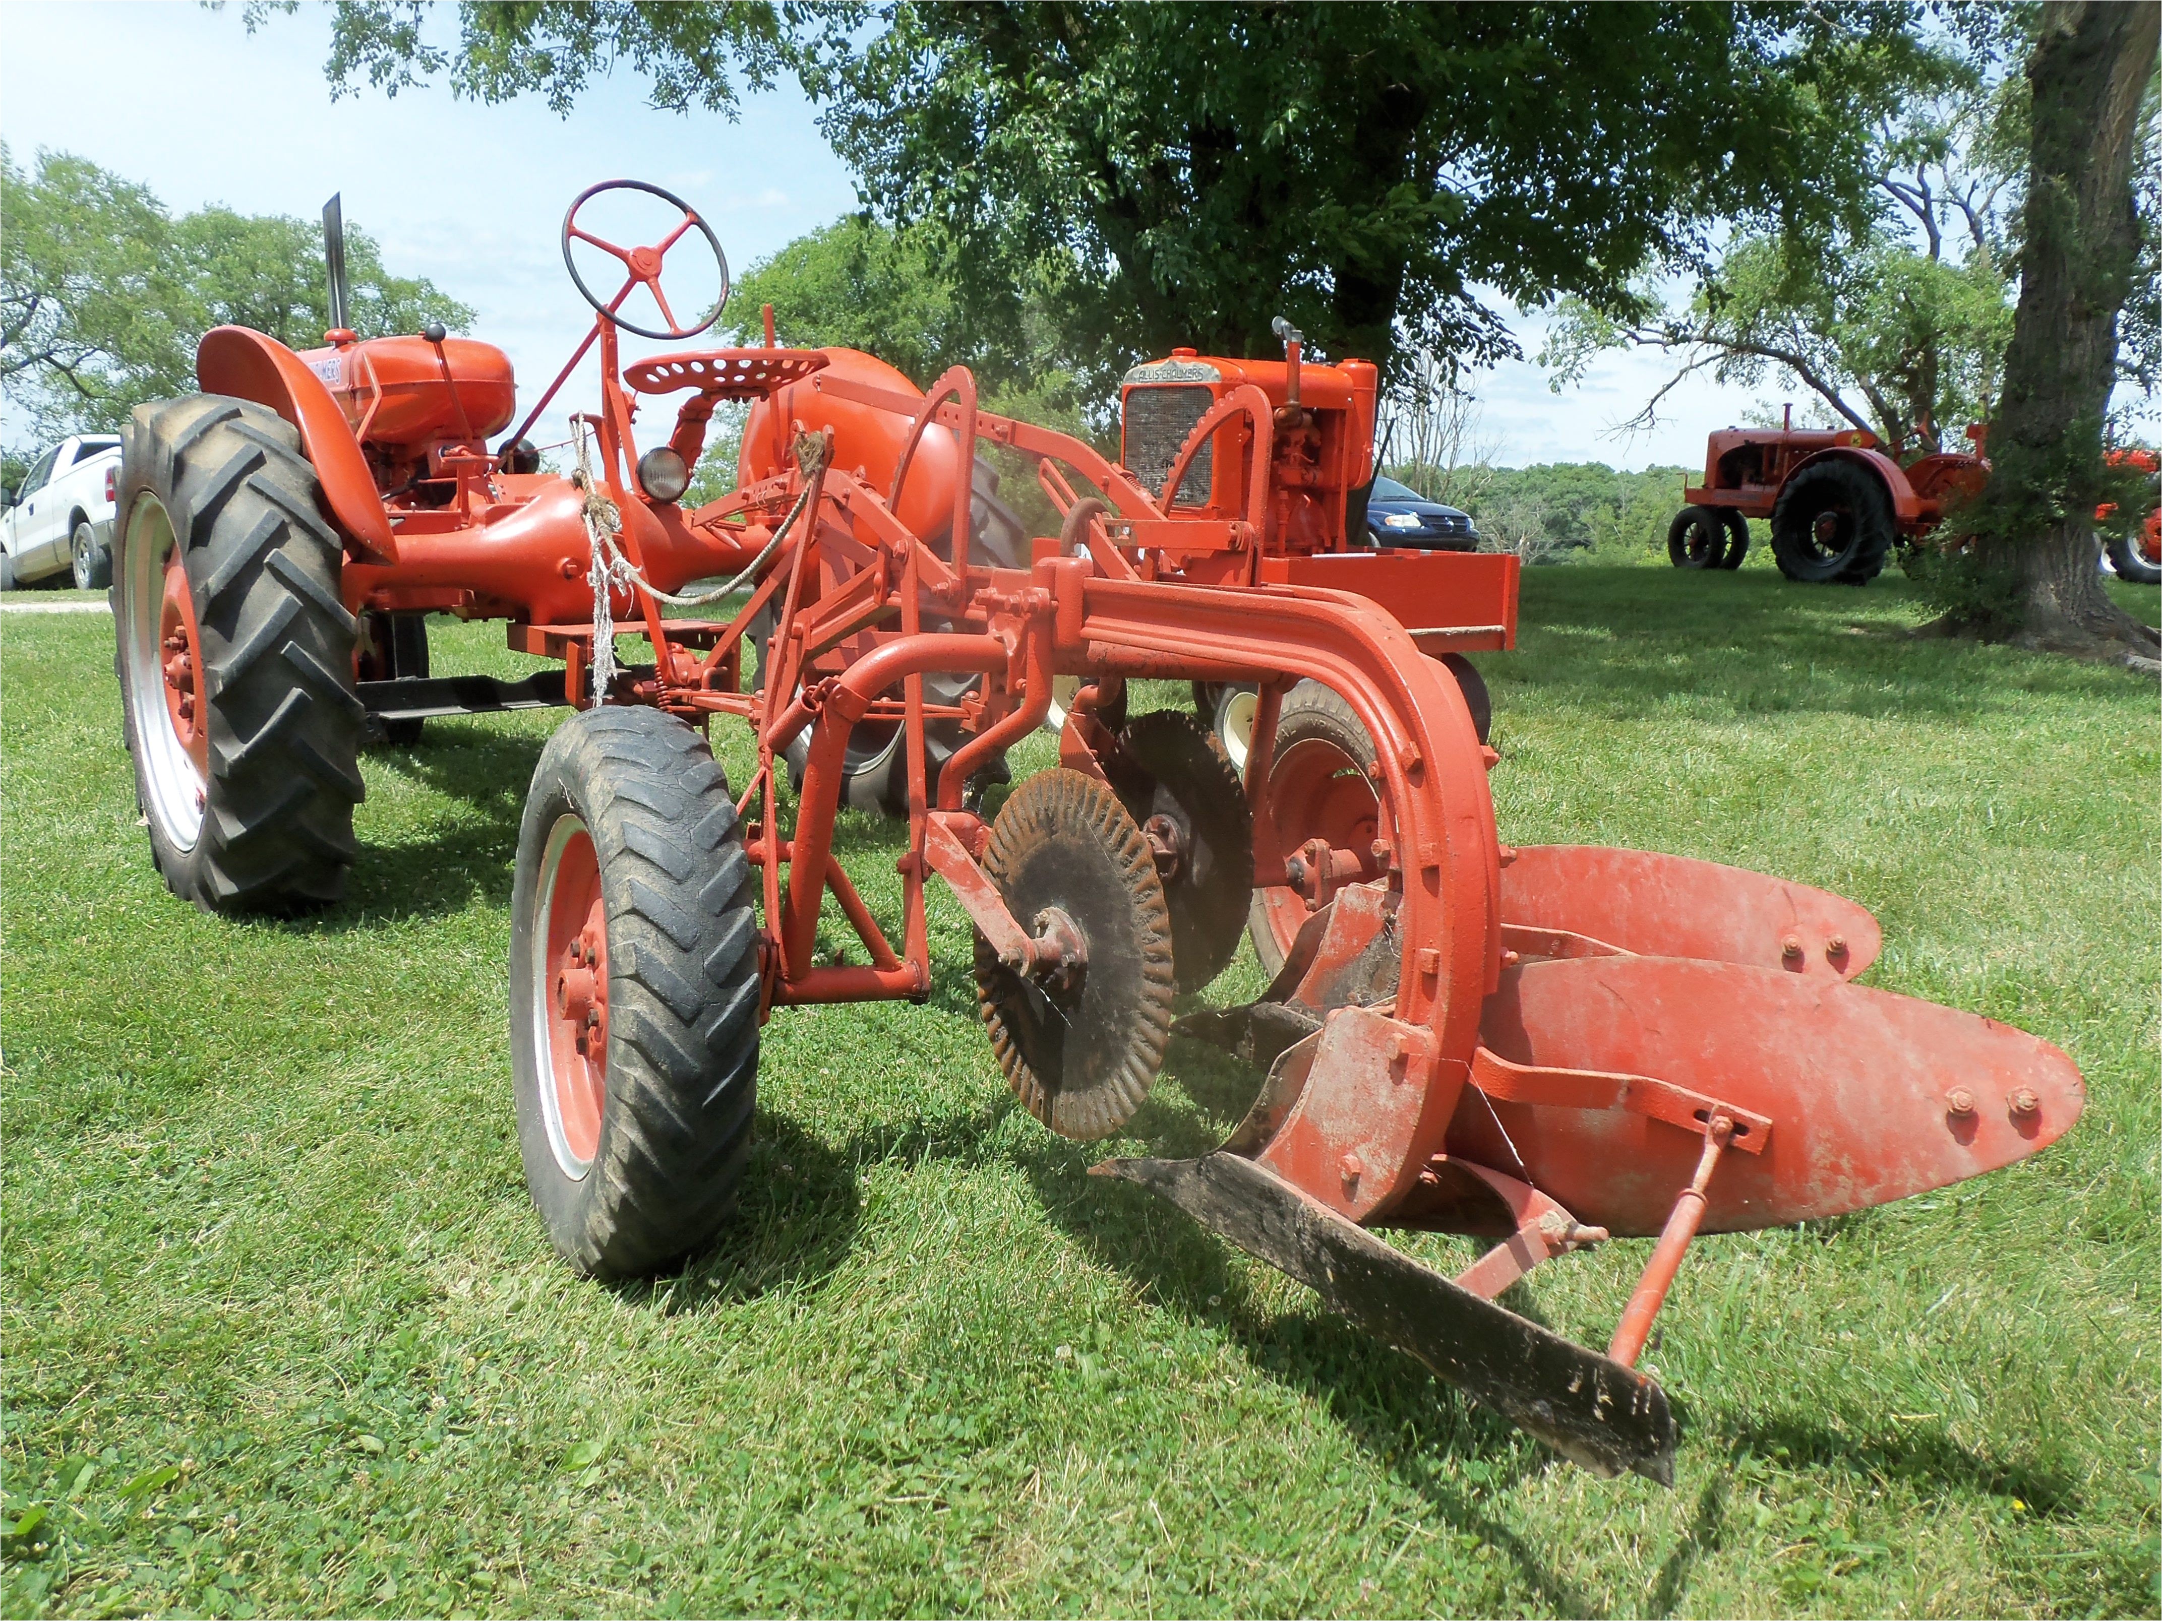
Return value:
M 195 849 L 203 834 L 210 791 L 210 711 L 203 700 L 203 633 L 195 620 L 188 571 L 173 542 L 173 519 L 156 495 L 136 497 L 121 545 L 117 635 L 128 661 L 128 718 L 143 772 L 143 813 L 175 849 Z M 179 648 L 169 648 L 171 638 Z M 169 672 L 173 655 L 188 659 L 182 685 Z M 184 713 L 182 698 L 192 700 Z

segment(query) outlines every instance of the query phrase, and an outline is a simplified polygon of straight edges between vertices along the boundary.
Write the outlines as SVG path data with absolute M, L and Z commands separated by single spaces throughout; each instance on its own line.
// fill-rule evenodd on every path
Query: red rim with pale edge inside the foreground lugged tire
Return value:
M 584 819 L 556 817 L 534 906 L 534 1057 L 549 1152 L 573 1182 L 601 1148 L 608 1102 L 608 912 L 601 860 Z M 573 953 L 573 945 L 582 951 Z M 584 975 L 584 979 L 579 979 Z M 590 1020 L 590 1012 L 599 1020 Z

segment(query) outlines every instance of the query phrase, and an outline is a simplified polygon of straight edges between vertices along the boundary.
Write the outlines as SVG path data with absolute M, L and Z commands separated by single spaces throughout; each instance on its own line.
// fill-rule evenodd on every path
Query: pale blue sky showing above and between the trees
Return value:
M 452 28 L 445 9 L 445 41 Z M 238 4 L 11 0 L 0 35 L 0 136 L 19 164 L 39 147 L 74 151 L 149 184 L 175 212 L 225 203 L 313 216 L 342 192 L 346 218 L 383 244 L 393 270 L 426 274 L 476 309 L 473 335 L 517 365 L 521 406 L 590 322 L 556 233 L 592 182 L 638 177 L 688 197 L 716 220 L 735 268 L 856 207 L 848 169 L 793 84 L 746 95 L 735 123 L 659 112 L 629 71 L 588 89 L 569 119 L 538 97 L 480 106 L 441 86 L 333 102 L 329 19 L 313 4 L 249 35 Z M 48 63 L 89 71 L 41 71 Z M 1516 326 L 1524 352 L 1537 352 L 1537 322 Z M 1693 378 L 1669 396 L 1658 430 L 1615 437 L 1667 374 L 1656 357 L 1611 354 L 1557 396 L 1537 365 L 1505 365 L 1477 380 L 1481 439 L 1503 465 L 1701 463 L 1704 434 L 1738 421 L 1756 396 Z

